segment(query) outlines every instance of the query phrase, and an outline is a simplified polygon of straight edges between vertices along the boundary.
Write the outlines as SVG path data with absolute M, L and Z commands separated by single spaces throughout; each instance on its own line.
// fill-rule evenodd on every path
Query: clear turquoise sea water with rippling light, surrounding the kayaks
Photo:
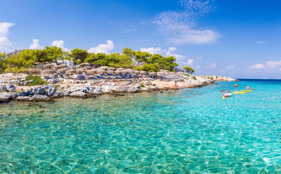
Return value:
M 281 81 L 218 83 L 0 105 L 0 173 L 280 173 Z

